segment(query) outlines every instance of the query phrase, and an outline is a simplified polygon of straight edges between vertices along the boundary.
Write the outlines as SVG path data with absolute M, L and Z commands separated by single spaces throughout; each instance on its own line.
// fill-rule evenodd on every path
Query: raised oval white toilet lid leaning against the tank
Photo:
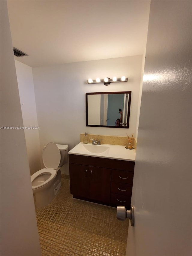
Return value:
M 61 154 L 54 142 L 49 142 L 43 150 L 43 163 L 46 168 L 56 169 L 61 161 Z

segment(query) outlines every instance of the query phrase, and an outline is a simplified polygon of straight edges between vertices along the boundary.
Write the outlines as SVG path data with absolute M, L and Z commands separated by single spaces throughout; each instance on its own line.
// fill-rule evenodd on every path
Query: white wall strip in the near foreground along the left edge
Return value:
M 23 126 L 7 1 L 1 7 L 1 126 Z M 40 256 L 24 130 L 1 129 L 1 255 Z

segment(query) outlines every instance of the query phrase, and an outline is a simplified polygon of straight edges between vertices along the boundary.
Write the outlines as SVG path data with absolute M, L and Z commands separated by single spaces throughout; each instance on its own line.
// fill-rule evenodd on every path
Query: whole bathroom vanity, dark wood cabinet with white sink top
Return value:
M 134 165 L 135 150 L 80 142 L 69 151 L 70 193 L 73 198 L 129 209 Z

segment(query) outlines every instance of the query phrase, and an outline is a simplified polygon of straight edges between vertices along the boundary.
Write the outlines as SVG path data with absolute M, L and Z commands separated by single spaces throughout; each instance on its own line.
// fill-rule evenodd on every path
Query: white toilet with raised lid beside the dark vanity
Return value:
M 31 182 L 35 194 L 35 206 L 41 208 L 49 204 L 61 187 L 60 168 L 67 162 L 68 146 L 49 142 L 43 150 L 46 168 L 32 174 Z

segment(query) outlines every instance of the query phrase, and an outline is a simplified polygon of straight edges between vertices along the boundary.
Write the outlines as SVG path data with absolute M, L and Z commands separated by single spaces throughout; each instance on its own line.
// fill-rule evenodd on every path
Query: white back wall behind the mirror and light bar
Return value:
M 72 149 L 80 133 L 119 135 L 136 133 L 143 56 L 130 56 L 33 68 L 41 149 L 49 141 Z M 128 77 L 127 83 L 87 84 L 88 78 Z M 132 91 L 129 129 L 86 127 L 85 92 Z M 67 165 L 61 169 L 62 172 Z

